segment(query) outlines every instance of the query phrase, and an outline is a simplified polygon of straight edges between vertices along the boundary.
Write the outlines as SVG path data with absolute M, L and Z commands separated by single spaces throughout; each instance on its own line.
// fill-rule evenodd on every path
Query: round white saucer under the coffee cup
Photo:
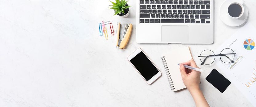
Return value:
M 224 1 L 222 3 L 222 5 L 220 6 L 219 12 L 220 12 L 220 19 L 222 20 L 222 22 L 224 24 L 226 24 L 228 26 L 236 27 L 236 26 L 240 26 L 240 25 L 242 25 L 246 22 L 247 17 L 248 17 L 248 9 L 247 9 L 246 5 L 243 4 L 243 6 L 244 6 L 244 15 L 242 17 L 240 17 L 239 19 L 232 19 L 227 14 L 227 8 L 233 2 L 239 2 L 239 0 L 226 0 L 226 1 Z

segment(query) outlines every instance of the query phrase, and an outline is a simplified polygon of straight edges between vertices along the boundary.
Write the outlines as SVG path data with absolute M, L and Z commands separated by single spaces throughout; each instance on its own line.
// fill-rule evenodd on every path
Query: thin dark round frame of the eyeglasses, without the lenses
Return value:
M 225 48 L 225 49 L 230 49 L 230 48 Z M 223 49 L 223 50 L 225 50 L 225 49 Z M 222 50 L 222 51 L 223 51 Z M 232 50 L 232 49 L 230 49 L 230 50 Z M 204 50 L 204 51 L 206 51 L 206 50 Z M 202 51 L 201 52 L 201 54 L 204 52 L 204 51 Z M 211 51 L 211 50 L 210 50 Z M 221 59 L 221 56 L 225 56 L 225 57 L 227 57 L 229 60 L 230 60 L 230 62 L 232 62 L 232 63 L 234 63 L 234 58 L 235 57 L 233 57 L 233 59 L 231 60 L 228 56 L 226 56 L 226 55 L 229 55 L 229 54 L 236 54 L 235 52 L 234 52 L 234 50 L 232 50 L 233 51 L 233 53 L 226 53 L 226 54 L 221 54 L 222 53 L 222 51 L 220 52 L 220 54 L 217 54 L 217 55 L 215 55 L 215 53 L 213 52 L 213 51 L 211 51 L 212 53 L 213 53 L 213 55 L 208 55 L 208 56 L 201 56 L 201 54 L 200 54 L 200 56 L 198 56 L 198 57 L 205 57 L 205 59 L 202 61 L 201 60 L 201 58 L 200 58 L 200 61 L 202 62 L 200 65 L 210 65 L 210 64 L 212 64 L 214 61 L 215 61 L 215 56 L 220 56 L 220 60 L 222 61 L 222 59 Z M 214 60 L 212 61 L 212 63 L 210 63 L 210 64 L 205 64 L 204 62 L 206 61 L 206 59 L 208 58 L 208 57 L 212 57 L 212 56 L 214 56 Z M 222 62 L 224 62 L 224 61 L 222 61 Z M 224 63 L 230 63 L 230 62 L 224 62 Z

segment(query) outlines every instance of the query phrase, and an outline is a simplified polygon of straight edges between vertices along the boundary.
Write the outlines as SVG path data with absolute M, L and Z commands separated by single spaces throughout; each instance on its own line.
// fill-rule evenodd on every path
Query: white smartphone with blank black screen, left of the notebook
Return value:
M 141 48 L 135 50 L 127 59 L 148 84 L 152 84 L 162 75 Z

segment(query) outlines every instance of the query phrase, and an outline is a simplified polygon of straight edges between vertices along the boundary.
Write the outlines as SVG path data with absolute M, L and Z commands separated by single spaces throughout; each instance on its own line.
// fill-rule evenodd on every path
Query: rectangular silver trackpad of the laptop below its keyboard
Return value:
M 162 26 L 162 42 L 188 42 L 188 26 Z

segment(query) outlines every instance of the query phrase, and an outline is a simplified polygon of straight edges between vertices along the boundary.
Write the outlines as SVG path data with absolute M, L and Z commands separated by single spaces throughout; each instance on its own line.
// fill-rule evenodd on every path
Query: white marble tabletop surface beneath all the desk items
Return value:
M 190 46 L 193 57 L 204 49 L 215 50 L 238 27 L 219 18 L 222 0 L 214 1 L 214 44 L 138 44 L 136 0 L 130 0 L 127 18 L 113 16 L 107 0 L 1 0 L 0 1 L 0 106 L 96 107 L 96 106 L 195 106 L 188 90 L 172 92 L 160 57 L 179 46 Z M 255 0 L 246 0 L 249 21 L 256 27 Z M 134 25 L 129 44 L 116 49 L 116 35 L 99 36 L 102 20 Z M 127 61 L 142 48 L 163 75 L 148 85 Z M 216 52 L 218 53 L 218 52 Z M 216 62 L 218 63 L 218 62 Z M 217 66 L 200 66 L 200 87 L 213 107 L 252 106 L 234 86 L 219 92 L 205 78 Z M 232 82 L 232 81 L 231 81 Z

